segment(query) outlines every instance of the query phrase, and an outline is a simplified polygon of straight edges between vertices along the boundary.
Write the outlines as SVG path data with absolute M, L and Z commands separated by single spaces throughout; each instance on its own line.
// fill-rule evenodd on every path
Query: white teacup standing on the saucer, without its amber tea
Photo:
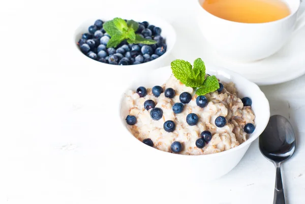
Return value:
M 203 36 L 220 55 L 232 60 L 251 62 L 264 59 L 279 51 L 291 34 L 305 24 L 303 14 L 297 17 L 301 0 L 282 0 L 291 14 L 267 23 L 225 20 L 205 11 L 202 8 L 205 0 L 196 1 L 197 21 Z

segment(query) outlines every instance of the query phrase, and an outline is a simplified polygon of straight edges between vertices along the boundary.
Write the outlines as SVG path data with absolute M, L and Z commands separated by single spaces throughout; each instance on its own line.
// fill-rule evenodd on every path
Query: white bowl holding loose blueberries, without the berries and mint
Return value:
M 93 25 L 97 19 L 107 21 L 107 20 L 111 20 L 115 17 L 120 17 L 120 18 L 128 19 L 128 20 L 132 19 L 132 20 L 135 20 L 138 22 L 147 21 L 149 24 L 153 24 L 155 26 L 160 27 L 162 29 L 161 36 L 166 39 L 166 44 L 167 44 L 166 52 L 162 56 L 158 57 L 156 60 L 153 60 L 153 61 L 150 61 L 147 63 L 143 63 L 143 64 L 139 64 L 139 65 L 126 65 L 126 66 L 109 65 L 109 64 L 101 63 L 101 62 L 92 60 L 89 57 L 87 57 L 86 55 L 84 55 L 80 51 L 80 49 L 77 45 L 77 42 L 81 38 L 82 34 L 88 33 L 88 27 L 90 25 Z M 113 13 L 113 12 L 112 13 L 103 12 L 101 15 L 99 15 L 97 17 L 87 19 L 87 20 L 83 21 L 82 23 L 80 23 L 80 25 L 76 28 L 76 30 L 74 32 L 74 38 L 73 38 L 73 44 L 74 44 L 75 50 L 77 52 L 75 54 L 77 54 L 78 60 L 84 60 L 88 64 L 88 67 L 91 67 L 91 68 L 95 67 L 95 69 L 98 69 L 98 70 L 96 70 L 97 74 L 103 73 L 103 69 L 106 71 L 111 70 L 114 73 L 120 73 L 121 76 L 124 76 L 123 78 L 121 78 L 122 80 L 128 78 L 128 76 L 134 77 L 135 74 L 137 74 L 139 72 L 147 73 L 147 71 L 149 71 L 149 70 L 157 69 L 162 66 L 168 65 L 168 62 L 169 62 L 168 58 L 170 56 L 170 53 L 171 53 L 172 48 L 174 47 L 175 43 L 176 43 L 176 32 L 171 24 L 169 24 L 167 21 L 165 21 L 163 19 L 159 19 L 154 16 L 147 16 L 145 14 L 140 14 L 137 12 L 133 12 L 132 14 L 120 13 L 119 15 L 117 13 Z

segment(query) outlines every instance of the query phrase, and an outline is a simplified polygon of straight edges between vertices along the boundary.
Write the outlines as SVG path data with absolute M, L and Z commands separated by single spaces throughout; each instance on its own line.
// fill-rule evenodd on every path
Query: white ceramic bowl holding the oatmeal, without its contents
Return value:
M 238 91 L 238 97 L 242 98 L 247 96 L 252 99 L 252 109 L 256 116 L 256 129 L 254 133 L 249 136 L 249 139 L 246 142 L 238 145 L 238 147 L 221 153 L 192 156 L 163 152 L 148 147 L 129 132 L 127 129 L 128 125 L 125 121 L 126 116 L 129 114 L 129 110 L 123 104 L 123 95 L 118 107 L 120 111 L 120 122 L 123 124 L 122 128 L 126 130 L 126 137 L 129 137 L 128 147 L 134 148 L 135 151 L 138 151 L 138 154 L 142 155 L 143 158 L 139 162 L 141 162 L 141 166 L 145 168 L 146 171 L 151 171 L 151 173 L 158 173 L 158 171 L 161 171 L 160 173 L 162 173 L 162 175 L 168 174 L 170 177 L 186 176 L 188 179 L 196 179 L 197 181 L 198 179 L 200 180 L 200 178 L 202 181 L 219 178 L 237 165 L 250 147 L 250 144 L 267 126 L 270 116 L 269 102 L 255 83 L 237 73 L 223 68 L 209 65 L 206 65 L 206 67 L 208 74 L 216 75 L 221 81 L 233 81 Z M 141 77 L 135 79 L 133 83 L 127 84 L 127 88 L 128 90 L 136 90 L 138 86 L 151 88 L 154 85 L 162 85 L 170 75 L 170 66 L 163 67 L 154 70 L 149 76 L 143 74 Z M 140 158 L 141 156 L 138 157 Z M 141 169 L 138 170 L 140 171 Z

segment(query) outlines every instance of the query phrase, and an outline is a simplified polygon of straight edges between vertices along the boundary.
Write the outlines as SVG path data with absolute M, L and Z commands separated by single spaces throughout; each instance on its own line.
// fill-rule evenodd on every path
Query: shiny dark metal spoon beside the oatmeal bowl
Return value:
M 289 159 L 295 150 L 295 136 L 289 121 L 282 115 L 273 115 L 264 132 L 259 136 L 261 153 L 277 168 L 273 204 L 285 204 L 281 164 Z

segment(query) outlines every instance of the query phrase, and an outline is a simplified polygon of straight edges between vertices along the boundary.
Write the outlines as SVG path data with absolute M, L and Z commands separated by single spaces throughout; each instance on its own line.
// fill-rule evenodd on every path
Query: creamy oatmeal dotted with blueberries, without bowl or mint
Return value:
M 246 124 L 254 127 L 254 112 L 237 97 L 232 82 L 223 83 L 220 92 L 202 97 L 173 75 L 154 88 L 154 94 L 152 89 L 144 89 L 138 89 L 140 94 L 128 91 L 125 95 L 128 128 L 137 139 L 158 150 L 184 155 L 223 152 L 247 140 Z

